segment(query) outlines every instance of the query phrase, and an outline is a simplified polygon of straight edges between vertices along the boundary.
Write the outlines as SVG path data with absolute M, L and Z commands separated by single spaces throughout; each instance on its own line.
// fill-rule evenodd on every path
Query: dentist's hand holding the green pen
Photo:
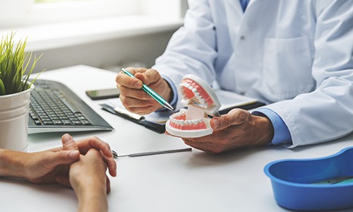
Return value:
M 136 114 L 149 114 L 162 108 L 162 105 L 142 90 L 143 83 L 155 90 L 164 100 L 172 99 L 172 88 L 155 69 L 127 68 L 135 78 L 119 72 L 116 86 L 120 90 L 119 98 L 124 107 Z

